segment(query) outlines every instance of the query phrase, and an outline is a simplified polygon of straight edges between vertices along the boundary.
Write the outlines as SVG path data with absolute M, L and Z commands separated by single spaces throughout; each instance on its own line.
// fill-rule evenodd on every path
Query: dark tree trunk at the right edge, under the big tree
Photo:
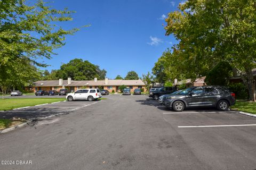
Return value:
M 249 91 L 249 101 L 256 101 L 256 83 L 255 79 L 253 78 L 252 70 L 246 68 L 245 74 L 243 75 L 243 81 L 247 86 Z

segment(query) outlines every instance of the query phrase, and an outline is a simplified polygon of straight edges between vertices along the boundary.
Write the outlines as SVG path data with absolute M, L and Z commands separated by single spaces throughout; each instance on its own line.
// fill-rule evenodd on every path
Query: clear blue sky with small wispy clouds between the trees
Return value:
M 52 1 L 49 1 L 52 2 Z M 154 63 L 166 48 L 177 40 L 165 36 L 163 18 L 177 10 L 180 1 L 169 0 L 55 0 L 54 8 L 76 11 L 74 20 L 58 23 L 60 27 L 82 28 L 68 36 L 66 45 L 55 50 L 51 60 L 44 60 L 59 69 L 62 63 L 82 58 L 99 65 L 107 71 L 107 77 L 114 79 L 117 74 L 125 77 L 128 71 L 139 74 L 151 72 Z

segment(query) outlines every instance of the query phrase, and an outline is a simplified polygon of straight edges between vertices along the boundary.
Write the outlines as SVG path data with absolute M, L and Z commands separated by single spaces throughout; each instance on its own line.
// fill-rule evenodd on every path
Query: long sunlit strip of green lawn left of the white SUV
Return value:
M 63 98 L 12 98 L 0 99 L 0 111 L 7 111 L 14 108 L 35 106 L 56 101 L 63 101 Z

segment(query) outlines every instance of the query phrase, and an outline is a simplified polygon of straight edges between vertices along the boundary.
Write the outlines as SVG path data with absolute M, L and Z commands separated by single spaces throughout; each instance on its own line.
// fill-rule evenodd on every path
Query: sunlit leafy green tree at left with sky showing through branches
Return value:
M 0 1 L 0 82 L 4 92 L 17 81 L 25 82 L 36 71 L 26 68 L 46 66 L 38 58 L 50 59 L 53 50 L 65 45 L 65 36 L 78 29 L 65 30 L 56 23 L 71 21 L 73 11 L 55 10 L 45 2 Z M 20 72 L 20 68 L 28 71 Z M 17 77 L 9 76 L 19 75 Z M 13 80 L 11 80 L 13 78 Z

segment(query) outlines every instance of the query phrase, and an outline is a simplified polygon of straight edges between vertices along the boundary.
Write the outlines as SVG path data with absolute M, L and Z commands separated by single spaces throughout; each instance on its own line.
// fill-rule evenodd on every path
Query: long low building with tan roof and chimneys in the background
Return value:
M 130 88 L 131 91 L 134 89 L 144 89 L 145 83 L 143 83 L 142 80 L 98 80 L 97 78 L 94 78 L 94 80 L 81 80 L 81 81 L 75 81 L 71 80 L 71 78 L 68 78 L 68 80 L 40 80 L 33 83 L 33 86 L 25 87 L 26 90 L 29 91 L 37 91 L 37 90 L 57 90 L 60 89 L 68 89 L 69 91 L 76 91 L 77 89 L 80 89 L 82 87 L 86 88 L 102 88 L 105 90 L 108 90 L 112 92 L 113 90 L 115 92 L 118 91 L 118 87 L 125 85 L 127 88 Z

